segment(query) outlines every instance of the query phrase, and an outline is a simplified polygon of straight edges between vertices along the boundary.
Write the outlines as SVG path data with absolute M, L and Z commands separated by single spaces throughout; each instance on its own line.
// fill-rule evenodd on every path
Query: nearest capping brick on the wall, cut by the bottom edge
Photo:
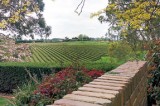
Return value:
M 87 102 L 74 101 L 69 99 L 60 99 L 54 102 L 57 106 L 102 106 L 98 104 L 91 104 Z

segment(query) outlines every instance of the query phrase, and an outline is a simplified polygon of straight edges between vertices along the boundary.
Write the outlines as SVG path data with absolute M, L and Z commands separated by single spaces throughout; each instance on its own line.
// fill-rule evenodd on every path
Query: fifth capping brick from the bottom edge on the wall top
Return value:
M 84 87 L 93 87 L 93 88 L 107 89 L 107 90 L 115 90 L 115 91 L 120 91 L 120 90 L 122 90 L 122 87 L 104 86 L 104 85 L 93 85 L 93 84 L 85 84 Z

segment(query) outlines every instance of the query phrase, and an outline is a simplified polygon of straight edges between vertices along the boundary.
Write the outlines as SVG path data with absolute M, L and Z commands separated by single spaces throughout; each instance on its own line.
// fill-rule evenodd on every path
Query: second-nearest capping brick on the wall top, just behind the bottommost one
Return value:
M 88 96 L 80 96 L 80 95 L 74 95 L 74 94 L 68 94 L 63 97 L 64 99 L 71 99 L 76 100 L 80 102 L 88 102 L 93 104 L 99 104 L 103 106 L 110 106 L 111 101 L 108 99 L 102 99 L 102 98 L 95 98 L 95 97 L 88 97 Z

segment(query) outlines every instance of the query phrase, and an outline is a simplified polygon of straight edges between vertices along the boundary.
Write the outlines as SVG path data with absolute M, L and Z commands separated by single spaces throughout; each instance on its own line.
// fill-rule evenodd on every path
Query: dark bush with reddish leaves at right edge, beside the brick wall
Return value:
M 148 106 L 160 105 L 160 41 L 155 41 L 149 52 L 148 60 Z

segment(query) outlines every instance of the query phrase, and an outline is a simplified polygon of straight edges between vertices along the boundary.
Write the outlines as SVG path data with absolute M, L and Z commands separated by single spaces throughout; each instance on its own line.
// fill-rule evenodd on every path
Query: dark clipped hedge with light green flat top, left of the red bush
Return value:
M 36 75 L 38 79 L 41 79 L 44 74 L 61 70 L 61 68 L 53 68 L 45 64 L 0 63 L 0 92 L 12 93 L 13 89 L 29 80 L 25 68 L 30 70 L 32 75 Z

